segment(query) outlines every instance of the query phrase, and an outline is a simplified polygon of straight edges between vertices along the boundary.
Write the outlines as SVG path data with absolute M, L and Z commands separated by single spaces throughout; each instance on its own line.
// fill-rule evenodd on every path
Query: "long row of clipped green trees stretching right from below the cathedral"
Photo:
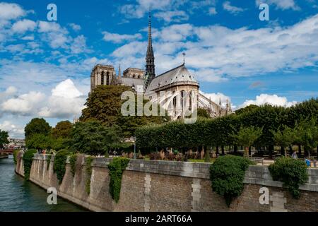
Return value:
M 225 145 L 283 148 L 317 145 L 318 99 L 293 107 L 249 106 L 218 119 L 199 118 L 196 124 L 174 121 L 163 126 L 143 126 L 136 131 L 141 148 L 195 148 Z M 282 148 L 282 150 L 283 150 Z

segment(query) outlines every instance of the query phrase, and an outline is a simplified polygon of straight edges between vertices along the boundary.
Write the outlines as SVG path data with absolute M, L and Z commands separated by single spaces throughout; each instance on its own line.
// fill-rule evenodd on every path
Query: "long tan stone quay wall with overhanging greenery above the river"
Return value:
M 300 199 L 293 199 L 281 182 L 274 182 L 268 167 L 250 166 L 245 174 L 245 188 L 241 196 L 232 201 L 230 208 L 224 198 L 211 189 L 208 163 L 130 160 L 122 177 L 118 203 L 109 191 L 110 177 L 107 165 L 110 158 L 93 160 L 90 194 L 86 192 L 88 175 L 84 157 L 76 162 L 73 177 L 69 161 L 63 182 L 58 183 L 53 172 L 54 155 L 47 167 L 48 155 L 35 155 L 30 181 L 41 186 L 57 188 L 58 195 L 93 211 L 261 211 L 261 212 L 318 212 L 318 169 L 308 169 L 310 179 L 300 186 Z M 23 176 L 22 155 L 18 155 L 16 173 Z M 261 205 L 259 190 L 269 189 L 269 204 Z

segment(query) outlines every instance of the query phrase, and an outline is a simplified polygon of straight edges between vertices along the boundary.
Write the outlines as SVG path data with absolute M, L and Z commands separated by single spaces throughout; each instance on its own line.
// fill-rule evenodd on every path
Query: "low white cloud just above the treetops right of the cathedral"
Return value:
M 273 105 L 273 106 L 280 106 L 280 107 L 291 107 L 296 105 L 296 101 L 288 102 L 286 97 L 279 97 L 278 95 L 268 95 L 268 94 L 261 94 L 256 97 L 255 100 L 246 100 L 240 108 L 247 107 L 249 105 Z

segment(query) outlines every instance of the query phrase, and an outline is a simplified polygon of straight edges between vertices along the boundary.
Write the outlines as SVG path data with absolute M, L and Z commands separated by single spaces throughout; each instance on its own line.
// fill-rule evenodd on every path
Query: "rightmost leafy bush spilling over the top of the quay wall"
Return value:
M 278 158 L 269 166 L 269 172 L 273 180 L 283 182 L 294 198 L 300 198 L 299 186 L 305 184 L 308 179 L 307 166 L 302 160 L 294 160 L 289 157 Z

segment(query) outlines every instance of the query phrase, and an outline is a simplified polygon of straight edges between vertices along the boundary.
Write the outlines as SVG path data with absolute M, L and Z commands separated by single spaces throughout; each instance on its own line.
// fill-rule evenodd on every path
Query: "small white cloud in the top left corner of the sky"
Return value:
M 25 11 L 18 4 L 0 2 L 0 20 L 12 20 L 25 16 Z

